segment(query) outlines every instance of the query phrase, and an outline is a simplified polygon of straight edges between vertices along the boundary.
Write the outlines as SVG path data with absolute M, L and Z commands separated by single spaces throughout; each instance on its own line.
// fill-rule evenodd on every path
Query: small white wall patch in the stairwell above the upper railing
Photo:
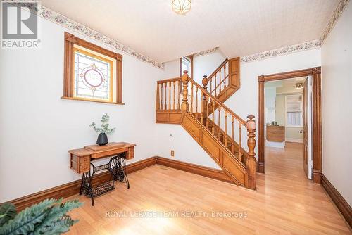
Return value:
M 225 61 L 225 56 L 218 49 L 204 56 L 193 58 L 193 80 L 201 84 L 204 75 L 209 76 L 219 65 Z

